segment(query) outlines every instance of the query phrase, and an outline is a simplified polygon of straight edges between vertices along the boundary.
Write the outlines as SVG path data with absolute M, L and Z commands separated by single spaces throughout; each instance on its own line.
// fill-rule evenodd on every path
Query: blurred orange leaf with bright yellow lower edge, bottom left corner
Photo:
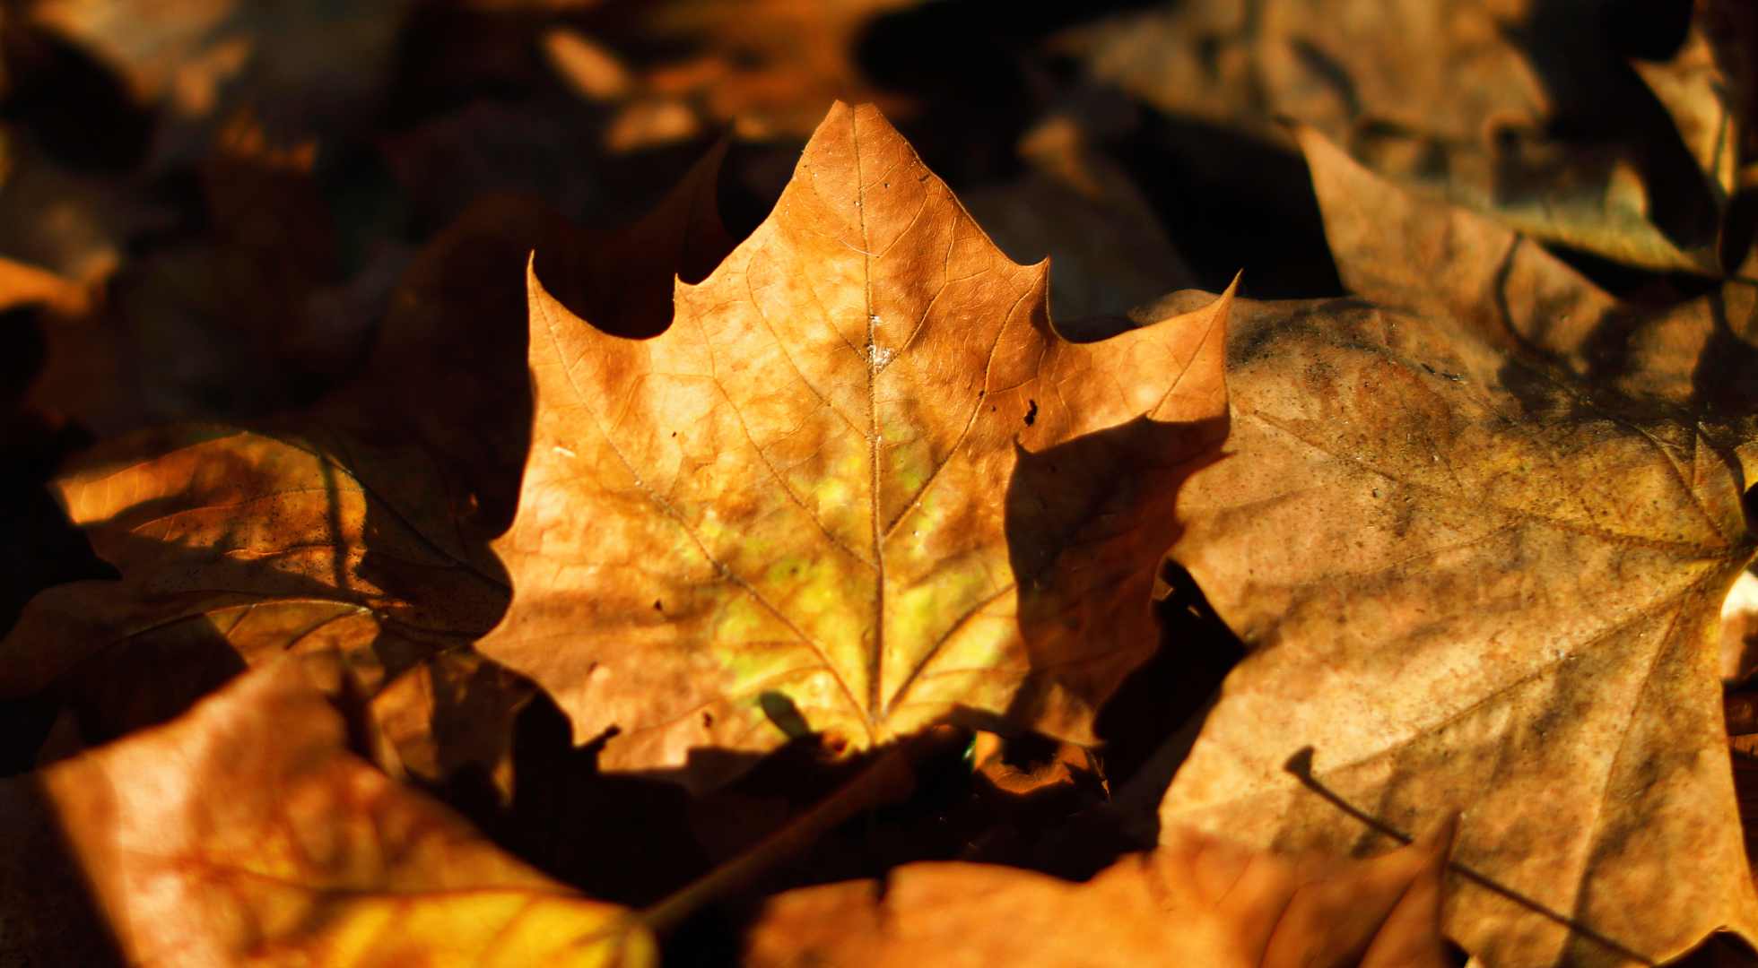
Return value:
M 304 675 L 272 662 L 176 722 L 0 780 L 4 910 L 63 915 L 9 917 L 0 957 L 91 963 L 107 936 L 130 964 L 657 963 L 628 912 L 352 755 Z

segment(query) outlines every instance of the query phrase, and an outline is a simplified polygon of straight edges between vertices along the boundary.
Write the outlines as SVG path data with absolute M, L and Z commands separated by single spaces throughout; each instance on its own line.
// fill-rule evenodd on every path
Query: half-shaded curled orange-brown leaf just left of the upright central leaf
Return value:
M 121 580 L 32 599 L 0 639 L 5 696 L 65 680 L 86 729 L 114 736 L 181 712 L 246 664 L 325 652 L 355 694 L 376 696 L 380 719 L 399 722 L 387 736 L 404 740 L 415 766 L 432 764 L 425 775 L 475 761 L 508 780 L 506 724 L 529 692 L 468 654 L 499 617 L 505 585 L 483 550 L 471 560 L 454 539 L 443 506 L 408 517 L 410 504 L 390 508 L 311 444 L 223 429 L 105 444 L 53 488 Z M 468 741 L 440 755 L 411 715 Z

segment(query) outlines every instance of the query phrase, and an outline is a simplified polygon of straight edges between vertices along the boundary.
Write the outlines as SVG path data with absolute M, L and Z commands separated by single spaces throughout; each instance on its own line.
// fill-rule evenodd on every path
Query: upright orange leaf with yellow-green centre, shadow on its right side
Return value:
M 605 334 L 529 285 L 513 601 L 478 650 L 577 741 L 615 726 L 607 768 L 955 712 L 1085 738 L 1153 652 L 1176 485 L 1225 427 L 1231 290 L 1067 343 L 1046 267 L 842 104 L 666 332 Z

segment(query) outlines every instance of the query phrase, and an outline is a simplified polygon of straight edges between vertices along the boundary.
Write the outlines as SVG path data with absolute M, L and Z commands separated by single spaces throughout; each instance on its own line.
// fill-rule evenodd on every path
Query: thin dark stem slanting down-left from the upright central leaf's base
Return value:
M 911 796 L 916 789 L 916 768 L 962 738 L 963 731 L 960 729 L 935 727 L 902 740 L 879 754 L 872 766 L 861 769 L 830 798 L 800 813 L 751 850 L 643 908 L 638 915 L 640 921 L 656 935 L 665 935 L 705 905 L 737 892 L 781 861 L 810 847 L 812 842 L 849 817 Z

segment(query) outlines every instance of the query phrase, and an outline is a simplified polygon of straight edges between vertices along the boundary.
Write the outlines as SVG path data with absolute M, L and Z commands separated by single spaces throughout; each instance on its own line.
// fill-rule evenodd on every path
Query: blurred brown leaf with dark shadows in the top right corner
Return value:
M 1672 60 L 1637 67 L 1607 28 L 1626 18 L 1653 44 L 1675 33 L 1677 7 L 1197 0 L 1062 42 L 1178 119 L 1283 146 L 1280 121 L 1296 119 L 1535 237 L 1719 274 L 1740 142 L 1730 84 L 1702 26 Z

